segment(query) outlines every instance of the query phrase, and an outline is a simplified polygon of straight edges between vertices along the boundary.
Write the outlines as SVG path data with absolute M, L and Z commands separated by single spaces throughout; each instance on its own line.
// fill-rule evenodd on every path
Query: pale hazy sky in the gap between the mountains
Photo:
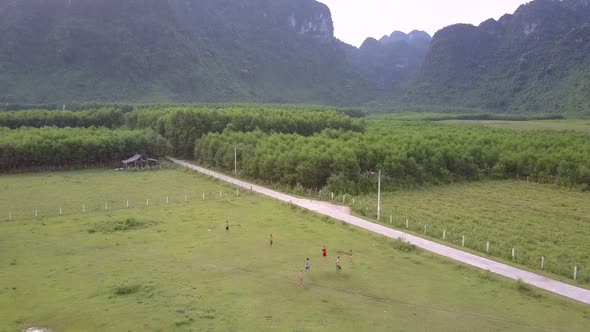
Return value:
M 531 0 L 318 0 L 332 11 L 336 37 L 360 46 L 367 37 L 394 30 L 424 30 L 431 35 L 455 23 L 479 23 L 514 13 Z

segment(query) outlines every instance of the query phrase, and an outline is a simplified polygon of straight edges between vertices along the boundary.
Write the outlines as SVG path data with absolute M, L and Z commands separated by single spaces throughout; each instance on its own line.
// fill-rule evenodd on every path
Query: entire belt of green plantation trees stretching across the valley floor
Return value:
M 528 177 L 590 190 L 587 133 L 366 121 L 349 114 L 268 105 L 5 111 L 0 169 L 106 164 L 134 153 L 170 153 L 231 170 L 237 146 L 244 176 L 349 194 L 374 190 L 379 170 L 391 189 Z

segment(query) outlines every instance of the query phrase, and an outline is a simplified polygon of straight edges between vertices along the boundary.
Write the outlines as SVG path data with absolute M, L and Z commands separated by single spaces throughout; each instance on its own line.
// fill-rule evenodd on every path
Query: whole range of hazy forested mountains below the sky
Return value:
M 360 48 L 314 0 L 0 0 L 0 102 L 72 101 L 585 112 L 590 0 Z

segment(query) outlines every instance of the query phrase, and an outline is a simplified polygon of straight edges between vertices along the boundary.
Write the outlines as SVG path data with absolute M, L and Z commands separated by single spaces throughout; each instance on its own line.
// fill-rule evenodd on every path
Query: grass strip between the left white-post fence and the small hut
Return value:
M 109 181 L 104 177 L 108 175 Z M 58 171 L 3 176 L 0 181 L 0 221 L 34 219 L 105 210 L 146 208 L 235 195 L 235 189 L 215 181 L 197 181 L 185 170 L 145 172 Z M 15 193 L 17 196 L 12 195 Z M 83 194 L 81 194 L 83 193 Z M 186 195 L 186 196 L 185 196 Z M 18 197 L 18 199 L 15 199 Z M 168 204 L 166 203 L 168 198 Z

